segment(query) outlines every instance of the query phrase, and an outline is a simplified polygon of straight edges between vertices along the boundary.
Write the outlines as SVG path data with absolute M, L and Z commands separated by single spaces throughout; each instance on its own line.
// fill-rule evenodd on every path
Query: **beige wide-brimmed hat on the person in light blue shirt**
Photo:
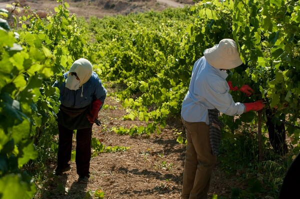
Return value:
M 242 64 L 237 52 L 236 43 L 232 39 L 222 39 L 216 45 L 204 50 L 206 61 L 219 69 L 231 69 Z

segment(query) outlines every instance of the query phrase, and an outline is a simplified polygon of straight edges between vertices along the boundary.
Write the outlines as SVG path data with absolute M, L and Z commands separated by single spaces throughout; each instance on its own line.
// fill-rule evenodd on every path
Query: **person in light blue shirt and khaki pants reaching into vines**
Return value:
M 217 45 L 204 50 L 204 56 L 193 65 L 181 107 L 187 140 L 182 199 L 207 199 L 223 125 L 218 120 L 218 112 L 233 116 L 264 107 L 262 101 L 235 103 L 228 93 L 226 70 L 241 64 L 236 43 L 232 39 L 222 39 Z M 242 88 L 242 92 L 251 94 L 251 88 Z

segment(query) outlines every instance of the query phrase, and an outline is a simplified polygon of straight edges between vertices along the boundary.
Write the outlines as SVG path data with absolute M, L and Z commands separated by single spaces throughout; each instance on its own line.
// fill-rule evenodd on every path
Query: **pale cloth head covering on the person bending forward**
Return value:
M 79 87 L 81 87 L 82 84 L 87 82 L 90 78 L 92 73 L 92 65 L 87 59 L 80 58 L 74 61 L 74 63 L 71 65 L 69 73 L 67 74 L 67 78 L 69 78 L 71 72 L 75 72 L 77 74 L 78 78 L 80 79 Z M 80 96 L 83 97 L 83 86 L 81 87 Z

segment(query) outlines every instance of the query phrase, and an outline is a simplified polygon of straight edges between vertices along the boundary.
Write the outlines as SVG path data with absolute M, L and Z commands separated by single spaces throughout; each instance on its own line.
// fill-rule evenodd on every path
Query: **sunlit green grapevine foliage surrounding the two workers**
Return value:
M 0 10 L 0 198 L 29 199 L 36 192 L 26 164 L 39 159 L 40 150 L 45 148 L 50 154 L 55 153 L 59 92 L 52 83 L 62 80 L 61 74 L 80 57 L 94 64 L 103 82 L 119 88 L 116 95 L 128 110 L 123 118 L 147 124 L 114 128 L 116 133 L 160 133 L 169 118 L 180 117 L 193 63 L 204 49 L 222 38 L 232 38 L 245 65 L 230 71 L 228 79 L 234 86 L 248 84 L 255 90 L 251 97 L 232 93 L 234 100 L 267 100 L 275 116 L 283 113 L 290 123 L 298 125 L 298 1 L 201 1 L 192 7 L 101 19 L 90 17 L 88 21 L 69 15 L 67 7 L 66 2 L 57 0 L 52 16 L 22 16 L 21 27 L 14 30 L 7 23 L 9 13 Z M 237 119 L 222 116 L 222 120 L 226 123 L 222 146 L 227 153 L 232 152 L 236 159 L 244 155 L 238 154 L 244 146 L 247 157 L 253 158 L 243 161 L 254 165 L 247 165 L 248 168 L 264 168 L 259 170 L 260 175 L 265 174 L 265 168 L 270 172 L 276 169 L 272 162 L 257 163 L 257 149 L 253 147 L 256 138 L 248 136 L 255 129 L 255 113 Z M 232 134 L 240 130 L 243 122 L 250 124 L 241 131 L 244 134 Z M 41 142 L 45 132 L 50 145 Z M 299 152 L 299 131 L 287 127 L 287 133 L 292 140 L 290 161 Z M 266 143 L 264 139 L 265 148 Z M 230 152 L 230 144 L 236 145 L 235 151 Z M 276 178 L 282 180 L 283 175 L 282 169 Z M 278 196 L 281 182 L 263 192 Z M 253 197 L 257 190 L 262 191 L 257 183 L 263 184 L 259 178 L 249 181 L 250 186 L 258 187 L 252 189 Z M 233 190 L 232 195 L 246 194 Z

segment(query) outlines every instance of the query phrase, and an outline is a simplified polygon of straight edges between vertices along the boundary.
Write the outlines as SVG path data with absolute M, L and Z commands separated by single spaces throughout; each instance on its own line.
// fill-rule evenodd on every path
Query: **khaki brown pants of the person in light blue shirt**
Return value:
M 182 118 L 181 118 L 182 119 Z M 210 176 L 216 163 L 209 144 L 209 126 L 205 122 L 186 122 L 186 154 L 182 199 L 207 199 Z

